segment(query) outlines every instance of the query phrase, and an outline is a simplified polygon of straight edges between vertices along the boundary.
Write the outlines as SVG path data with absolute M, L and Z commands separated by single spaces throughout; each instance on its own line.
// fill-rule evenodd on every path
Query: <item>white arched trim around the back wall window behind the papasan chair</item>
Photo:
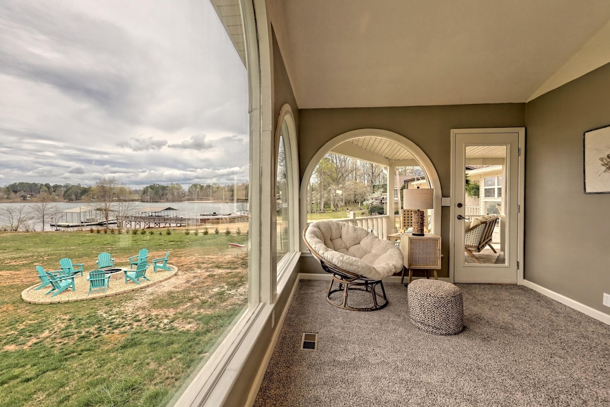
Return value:
M 436 172 L 436 168 L 432 165 L 432 161 L 426 156 L 417 144 L 407 139 L 403 135 L 398 133 L 387 131 L 383 129 L 358 129 L 353 131 L 348 131 L 346 133 L 337 135 L 334 139 L 329 140 L 325 145 L 323 145 L 318 152 L 314 154 L 314 157 L 307 164 L 307 168 L 303 173 L 303 180 L 301 181 L 301 229 L 305 228 L 307 225 L 307 185 L 309 185 L 309 179 L 311 178 L 312 173 L 314 173 L 316 165 L 318 162 L 329 152 L 331 149 L 335 148 L 340 143 L 346 142 L 351 139 L 355 139 L 356 137 L 382 137 L 384 139 L 392 140 L 411 151 L 411 153 L 417 158 L 422 165 L 423 170 L 426 172 L 426 176 L 428 177 L 428 182 L 430 186 L 434 188 L 434 216 L 432 219 L 432 232 L 436 234 L 440 234 L 440 203 L 442 192 L 440 190 L 440 179 L 439 175 Z M 303 242 L 301 242 L 303 245 Z M 302 246 L 301 251 L 304 250 L 304 245 Z

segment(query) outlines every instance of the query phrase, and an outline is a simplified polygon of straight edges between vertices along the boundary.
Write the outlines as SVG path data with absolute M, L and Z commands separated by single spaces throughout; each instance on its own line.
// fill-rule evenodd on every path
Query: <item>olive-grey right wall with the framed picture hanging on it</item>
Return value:
M 610 124 L 610 64 L 527 104 L 525 278 L 610 314 L 610 195 L 585 195 L 583 132 Z

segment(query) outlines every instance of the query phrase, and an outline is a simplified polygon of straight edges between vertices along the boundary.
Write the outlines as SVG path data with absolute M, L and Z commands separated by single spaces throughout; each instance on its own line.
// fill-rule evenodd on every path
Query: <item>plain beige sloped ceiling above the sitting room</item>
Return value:
M 522 103 L 610 19 L 609 0 L 275 0 L 298 106 Z

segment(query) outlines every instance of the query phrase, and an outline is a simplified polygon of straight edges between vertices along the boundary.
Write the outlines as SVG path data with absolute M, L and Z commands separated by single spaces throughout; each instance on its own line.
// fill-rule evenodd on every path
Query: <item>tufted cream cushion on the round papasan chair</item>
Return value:
M 370 279 L 382 279 L 403 268 L 403 253 L 393 242 L 348 223 L 314 222 L 305 239 L 325 261 Z

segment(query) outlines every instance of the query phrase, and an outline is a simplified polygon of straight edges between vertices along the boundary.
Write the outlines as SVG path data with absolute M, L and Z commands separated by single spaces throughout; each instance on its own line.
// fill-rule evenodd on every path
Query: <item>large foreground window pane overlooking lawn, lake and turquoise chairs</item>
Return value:
M 164 405 L 248 303 L 243 59 L 196 0 L 8 0 L 0 38 L 2 402 Z

